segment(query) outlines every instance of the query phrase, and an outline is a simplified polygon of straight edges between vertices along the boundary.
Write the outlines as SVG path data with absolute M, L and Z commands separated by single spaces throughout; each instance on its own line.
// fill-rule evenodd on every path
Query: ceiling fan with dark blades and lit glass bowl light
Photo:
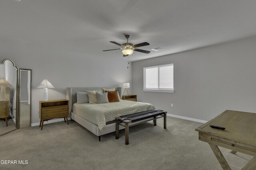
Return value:
M 128 43 L 128 38 L 130 38 L 130 35 L 124 35 L 124 36 L 127 39 L 127 43 L 119 44 L 119 43 L 117 43 L 115 41 L 110 41 L 110 43 L 114 43 L 116 45 L 119 45 L 122 48 L 120 48 L 120 49 L 111 49 L 111 50 L 103 50 L 103 51 L 122 50 L 122 53 L 124 54 L 123 57 L 131 55 L 133 53 L 133 51 L 138 51 L 138 52 L 146 53 L 146 54 L 150 53 L 150 51 L 146 51 L 146 50 L 142 50 L 142 49 L 136 49 L 137 47 L 142 47 L 142 46 L 150 45 L 149 43 L 144 42 L 144 43 L 139 43 L 139 44 L 133 45 L 132 43 Z

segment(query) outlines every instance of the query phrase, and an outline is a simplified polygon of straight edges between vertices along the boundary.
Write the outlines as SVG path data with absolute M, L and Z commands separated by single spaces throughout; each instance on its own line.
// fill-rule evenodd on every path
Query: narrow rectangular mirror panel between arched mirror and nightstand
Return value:
M 31 72 L 20 68 L 20 123 L 19 128 L 31 126 Z

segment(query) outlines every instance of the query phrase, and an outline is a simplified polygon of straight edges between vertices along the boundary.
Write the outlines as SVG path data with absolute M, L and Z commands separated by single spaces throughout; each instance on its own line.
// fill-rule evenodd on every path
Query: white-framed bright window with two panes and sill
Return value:
M 143 91 L 173 93 L 173 64 L 144 67 Z

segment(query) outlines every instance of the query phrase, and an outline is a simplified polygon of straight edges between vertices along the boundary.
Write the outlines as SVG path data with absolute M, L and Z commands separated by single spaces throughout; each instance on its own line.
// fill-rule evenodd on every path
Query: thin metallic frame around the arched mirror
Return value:
M 17 72 L 16 72 L 16 77 L 17 77 L 17 81 L 16 81 L 16 113 L 15 113 L 15 119 L 16 119 L 16 129 L 13 129 L 13 130 L 10 130 L 6 133 L 10 133 L 12 131 L 15 131 L 18 129 L 19 127 L 19 111 L 20 111 L 20 97 L 19 97 L 19 94 L 20 94 L 20 69 L 18 68 L 18 66 L 16 66 L 14 64 L 14 62 L 10 59 L 4 59 L 0 64 L 4 64 L 5 61 L 10 61 L 12 62 L 13 66 L 17 68 Z M 0 136 L 2 135 L 5 135 L 6 133 L 3 133 L 3 134 L 0 134 Z

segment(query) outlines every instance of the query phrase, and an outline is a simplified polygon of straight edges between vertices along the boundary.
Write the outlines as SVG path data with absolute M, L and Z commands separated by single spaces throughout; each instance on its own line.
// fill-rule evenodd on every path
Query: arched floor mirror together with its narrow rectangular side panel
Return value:
M 31 74 L 10 59 L 0 63 L 0 136 L 31 127 Z

